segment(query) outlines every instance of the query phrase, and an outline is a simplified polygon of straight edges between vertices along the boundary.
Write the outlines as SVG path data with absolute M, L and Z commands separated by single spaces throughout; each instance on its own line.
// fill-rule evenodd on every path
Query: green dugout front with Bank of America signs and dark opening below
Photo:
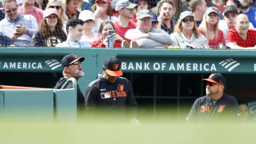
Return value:
M 0 84 L 51 88 L 61 77 L 62 57 L 69 53 L 85 57 L 85 76 L 78 81 L 82 92 L 102 72 L 107 57 L 121 59 L 142 111 L 148 106 L 154 115 L 158 106 L 173 106 L 178 114 L 182 107 L 190 108 L 204 95 L 201 79 L 210 73 L 224 74 L 227 93 L 236 98 L 256 98 L 256 51 L 240 50 L 0 48 Z

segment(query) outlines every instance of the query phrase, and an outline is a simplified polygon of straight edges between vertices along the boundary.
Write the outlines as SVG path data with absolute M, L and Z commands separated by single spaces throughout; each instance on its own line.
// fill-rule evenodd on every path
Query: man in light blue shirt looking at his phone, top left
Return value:
M 15 0 L 6 0 L 3 3 L 6 17 L 0 22 L 0 32 L 10 37 L 15 46 L 31 46 L 31 37 L 38 30 L 35 17 L 18 12 Z

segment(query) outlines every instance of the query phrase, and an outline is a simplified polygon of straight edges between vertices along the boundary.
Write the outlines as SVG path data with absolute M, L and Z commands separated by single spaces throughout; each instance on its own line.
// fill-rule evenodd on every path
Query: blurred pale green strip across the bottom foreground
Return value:
M 5 118 L 0 121 L 0 143 L 256 143 L 255 123 L 232 119 L 186 123 L 183 118 L 164 115 L 144 115 L 140 121 L 140 125 L 131 124 L 118 115 L 77 120 L 67 116 L 67 121 L 59 122 L 47 118 Z

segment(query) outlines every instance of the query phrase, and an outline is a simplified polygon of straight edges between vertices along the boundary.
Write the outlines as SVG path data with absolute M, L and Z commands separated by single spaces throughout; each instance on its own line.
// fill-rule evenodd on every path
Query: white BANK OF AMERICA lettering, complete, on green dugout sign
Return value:
M 122 62 L 122 70 L 169 70 L 169 71 L 217 71 L 214 63 L 166 63 L 155 62 L 150 65 L 150 62 L 129 62 L 127 67 L 126 62 Z M 256 71 L 256 63 L 254 64 L 254 71 Z

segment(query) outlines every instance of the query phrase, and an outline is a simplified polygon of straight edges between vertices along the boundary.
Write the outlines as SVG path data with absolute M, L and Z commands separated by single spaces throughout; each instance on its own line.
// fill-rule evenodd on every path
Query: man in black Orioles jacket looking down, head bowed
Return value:
M 97 110 L 100 115 L 109 115 L 117 112 L 119 116 L 125 114 L 129 107 L 133 123 L 138 123 L 135 118 L 137 102 L 135 101 L 132 85 L 124 77 L 121 61 L 115 57 L 105 60 L 103 73 L 91 82 L 85 91 L 85 105 L 88 111 Z M 134 122 L 135 121 L 135 122 Z

